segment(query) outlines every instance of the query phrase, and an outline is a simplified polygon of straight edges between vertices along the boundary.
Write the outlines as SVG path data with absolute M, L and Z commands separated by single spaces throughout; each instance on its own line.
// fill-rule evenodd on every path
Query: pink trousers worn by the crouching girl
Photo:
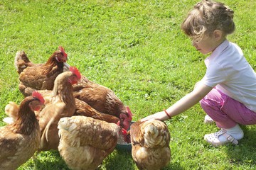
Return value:
M 256 101 L 255 101 L 256 102 Z M 256 113 L 250 111 L 239 101 L 212 89 L 201 101 L 201 107 L 219 128 L 229 129 L 235 125 L 256 124 Z

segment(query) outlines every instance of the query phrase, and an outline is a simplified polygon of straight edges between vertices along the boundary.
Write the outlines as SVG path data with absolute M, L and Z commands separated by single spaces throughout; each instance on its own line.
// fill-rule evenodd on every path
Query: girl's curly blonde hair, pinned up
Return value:
M 214 30 L 221 30 L 224 35 L 233 33 L 235 23 L 234 11 L 223 3 L 203 0 L 193 7 L 181 24 L 181 29 L 195 42 L 210 36 Z

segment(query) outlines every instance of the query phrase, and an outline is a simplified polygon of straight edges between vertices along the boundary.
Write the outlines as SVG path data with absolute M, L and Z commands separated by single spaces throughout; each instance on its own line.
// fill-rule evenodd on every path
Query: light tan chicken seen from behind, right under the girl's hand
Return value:
M 160 120 L 137 121 L 131 125 L 132 158 L 139 169 L 159 170 L 169 164 L 170 132 Z

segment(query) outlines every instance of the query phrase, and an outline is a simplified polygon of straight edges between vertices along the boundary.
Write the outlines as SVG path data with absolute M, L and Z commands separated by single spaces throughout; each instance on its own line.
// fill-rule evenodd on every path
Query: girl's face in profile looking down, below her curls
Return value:
M 203 55 L 207 55 L 209 52 L 213 52 L 213 50 L 218 47 L 219 43 L 216 42 L 215 38 L 208 36 L 203 38 L 200 42 L 192 40 L 192 45 Z

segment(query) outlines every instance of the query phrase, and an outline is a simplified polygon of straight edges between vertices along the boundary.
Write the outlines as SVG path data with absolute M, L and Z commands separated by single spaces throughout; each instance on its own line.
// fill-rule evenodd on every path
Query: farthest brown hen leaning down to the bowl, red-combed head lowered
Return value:
M 114 115 L 121 120 L 120 125 L 127 130 L 132 121 L 132 112 L 105 86 L 90 81 L 82 76 L 78 84 L 73 85 L 75 98 L 84 101 L 100 113 Z

